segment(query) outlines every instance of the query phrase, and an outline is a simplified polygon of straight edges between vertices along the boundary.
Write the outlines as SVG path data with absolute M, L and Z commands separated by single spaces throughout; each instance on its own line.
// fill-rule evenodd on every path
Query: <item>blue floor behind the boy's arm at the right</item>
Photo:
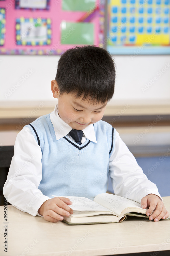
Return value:
M 170 156 L 137 157 L 138 165 L 147 178 L 156 184 L 161 196 L 170 196 Z M 113 192 L 109 177 L 108 191 Z

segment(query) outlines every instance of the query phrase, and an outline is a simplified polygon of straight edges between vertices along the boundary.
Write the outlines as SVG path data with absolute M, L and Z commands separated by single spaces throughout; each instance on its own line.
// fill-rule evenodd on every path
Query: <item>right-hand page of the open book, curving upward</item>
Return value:
M 135 202 L 133 200 L 130 200 L 128 198 L 122 197 L 122 196 L 116 196 L 112 194 L 99 194 L 95 196 L 94 198 L 95 202 L 98 202 L 99 204 L 103 205 L 104 207 L 107 207 L 111 211 L 113 211 L 115 214 L 122 216 L 122 212 L 125 208 L 132 208 L 133 212 L 135 211 L 134 208 L 136 208 L 136 212 L 146 213 L 147 209 L 142 209 L 141 205 L 138 202 Z M 129 210 L 129 211 L 128 211 Z M 127 209 L 127 213 L 130 212 L 130 209 Z

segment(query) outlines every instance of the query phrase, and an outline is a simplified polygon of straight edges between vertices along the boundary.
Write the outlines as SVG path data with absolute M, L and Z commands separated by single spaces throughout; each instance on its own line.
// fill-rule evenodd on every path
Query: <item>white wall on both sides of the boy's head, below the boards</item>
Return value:
M 50 85 L 55 79 L 59 57 L 0 55 L 1 102 L 55 101 Z M 125 100 L 126 103 L 131 100 L 142 100 L 144 103 L 146 100 L 170 100 L 169 55 L 134 58 L 116 55 L 113 58 L 117 75 L 115 95 L 110 104 L 114 100 Z M 149 82 L 149 89 L 142 91 Z

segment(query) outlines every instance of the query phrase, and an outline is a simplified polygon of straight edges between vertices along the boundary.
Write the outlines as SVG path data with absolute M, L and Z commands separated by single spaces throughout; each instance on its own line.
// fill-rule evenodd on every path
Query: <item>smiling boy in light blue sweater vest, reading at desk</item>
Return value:
M 93 200 L 106 193 L 110 174 L 116 195 L 149 207 L 148 216 L 155 210 L 150 220 L 169 216 L 156 185 L 143 174 L 116 130 L 101 121 L 114 84 L 114 62 L 106 50 L 75 47 L 61 56 L 51 81 L 58 105 L 26 125 L 16 138 L 3 189 L 8 202 L 57 222 L 73 213 L 72 202 L 60 196 Z

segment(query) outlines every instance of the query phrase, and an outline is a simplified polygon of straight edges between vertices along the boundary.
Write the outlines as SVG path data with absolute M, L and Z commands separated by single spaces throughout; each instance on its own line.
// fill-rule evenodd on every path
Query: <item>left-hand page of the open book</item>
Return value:
M 54 196 L 54 195 L 52 195 Z M 56 196 L 54 196 L 56 197 Z M 61 196 L 60 196 L 61 197 Z M 111 212 L 106 207 L 98 204 L 97 202 L 94 202 L 86 197 L 80 197 L 80 196 L 62 196 L 67 197 L 72 202 L 72 205 L 69 205 L 69 207 L 73 210 L 77 211 L 107 211 Z

